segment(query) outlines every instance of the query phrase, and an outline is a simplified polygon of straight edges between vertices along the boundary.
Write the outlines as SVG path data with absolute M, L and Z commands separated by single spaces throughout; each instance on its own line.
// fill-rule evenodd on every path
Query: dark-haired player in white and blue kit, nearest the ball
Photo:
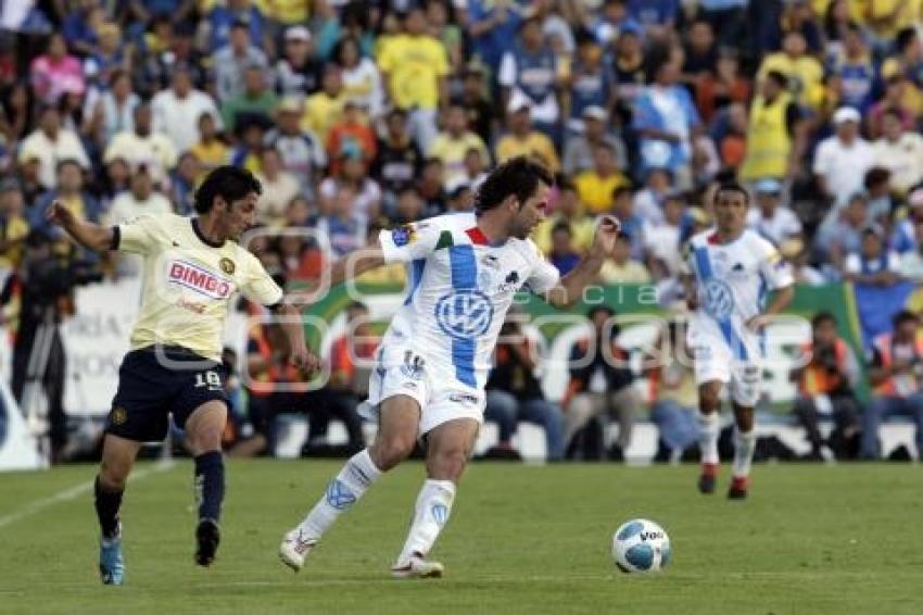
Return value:
M 383 472 L 406 459 L 422 436 L 427 480 L 392 574 L 442 575 L 442 564 L 426 556 L 448 519 L 483 421 L 491 353 L 516 291 L 528 287 L 552 304 L 570 304 L 581 298 L 615 244 L 618 223 L 604 218 L 590 255 L 559 279 L 528 239 L 545 217 L 551 184 L 543 167 L 513 159 L 482 184 L 477 214 L 443 215 L 384 230 L 377 248 L 349 265 L 349 275 L 356 276 L 384 263 L 406 263 L 410 283 L 369 381 L 368 404 L 379 421 L 375 442 L 346 462 L 304 520 L 286 535 L 279 555 L 287 565 L 300 569 L 336 518 Z M 332 284 L 345 279 L 346 269 L 344 262 L 334 264 Z

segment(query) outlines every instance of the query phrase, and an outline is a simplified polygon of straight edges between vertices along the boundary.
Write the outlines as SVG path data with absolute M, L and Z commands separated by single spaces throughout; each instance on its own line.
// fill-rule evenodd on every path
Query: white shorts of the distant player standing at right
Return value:
M 691 340 L 692 341 L 692 340 Z M 723 340 L 695 339 L 692 344 L 696 385 L 718 380 L 728 385 L 731 401 L 754 407 L 762 393 L 759 360 L 736 359 Z

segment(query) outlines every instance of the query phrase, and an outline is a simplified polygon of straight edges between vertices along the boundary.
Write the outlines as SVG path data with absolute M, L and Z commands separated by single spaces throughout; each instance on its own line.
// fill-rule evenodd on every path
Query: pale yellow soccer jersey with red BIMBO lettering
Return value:
M 144 258 L 132 350 L 178 346 L 218 361 L 235 291 L 262 305 L 282 300 L 282 289 L 256 256 L 233 241 L 207 243 L 195 224 L 195 218 L 162 214 L 114 227 L 115 249 Z

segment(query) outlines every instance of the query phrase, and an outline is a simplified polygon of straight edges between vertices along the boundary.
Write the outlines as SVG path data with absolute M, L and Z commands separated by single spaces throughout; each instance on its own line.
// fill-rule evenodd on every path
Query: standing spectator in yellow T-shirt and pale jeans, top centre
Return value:
M 422 9 L 410 9 L 404 20 L 404 34 L 382 46 L 378 67 L 394 105 L 409 113 L 417 146 L 420 151 L 428 151 L 437 135 L 437 109 L 448 99 L 448 58 L 445 47 L 427 33 Z

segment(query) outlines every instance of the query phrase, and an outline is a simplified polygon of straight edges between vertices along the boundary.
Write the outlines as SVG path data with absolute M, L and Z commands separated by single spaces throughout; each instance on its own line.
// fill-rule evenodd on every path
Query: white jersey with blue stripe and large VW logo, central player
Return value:
M 486 382 L 491 354 L 516 291 L 528 286 L 545 292 L 560 277 L 531 239 L 510 238 L 491 246 L 472 213 L 383 230 L 380 242 L 385 261 L 407 263 L 409 269 L 407 297 L 381 347 L 413 349 L 431 374 L 475 389 Z

